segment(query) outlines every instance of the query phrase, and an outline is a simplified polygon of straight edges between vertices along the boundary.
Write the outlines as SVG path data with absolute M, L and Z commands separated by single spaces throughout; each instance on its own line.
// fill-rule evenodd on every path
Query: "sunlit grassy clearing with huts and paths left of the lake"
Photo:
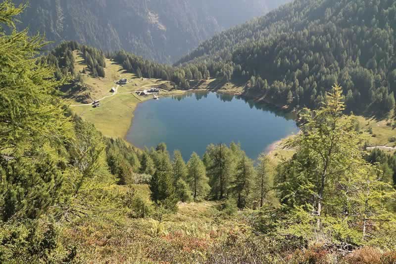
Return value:
M 147 89 L 150 86 L 162 85 L 165 91 L 170 92 L 164 92 L 165 94 L 162 93 L 161 96 L 183 93 L 177 90 L 172 91 L 173 87 L 167 81 L 138 78 L 135 74 L 126 72 L 121 65 L 110 59 L 106 59 L 105 77 L 94 78 L 89 75 L 82 54 L 75 51 L 74 56 L 75 68 L 82 74 L 84 83 L 88 86 L 88 92 L 93 100 L 111 95 L 110 89 L 116 86 L 115 82 L 117 80 L 123 78 L 128 80 L 128 84 L 119 86 L 116 95 L 102 100 L 99 108 L 93 108 L 92 106 L 72 107 L 74 113 L 93 123 L 107 137 L 124 138 L 131 126 L 133 112 L 137 105 L 152 99 L 151 96 L 140 97 L 133 92 Z M 84 68 L 86 69 L 85 74 L 82 73 Z M 78 103 L 70 100 L 69 104 Z

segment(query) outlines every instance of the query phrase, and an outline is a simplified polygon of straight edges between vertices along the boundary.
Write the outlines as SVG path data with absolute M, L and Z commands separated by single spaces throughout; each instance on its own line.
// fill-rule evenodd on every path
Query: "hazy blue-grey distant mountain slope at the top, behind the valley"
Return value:
M 21 15 L 19 28 L 29 26 L 57 43 L 76 40 L 170 62 L 215 33 L 286 1 L 35 0 Z

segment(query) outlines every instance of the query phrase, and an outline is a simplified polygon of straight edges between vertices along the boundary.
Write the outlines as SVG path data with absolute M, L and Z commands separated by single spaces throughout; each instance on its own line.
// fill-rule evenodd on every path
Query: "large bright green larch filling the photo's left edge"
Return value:
M 56 97 L 54 71 L 41 63 L 46 45 L 15 31 L 25 6 L 0 3 L 0 213 L 36 218 L 61 196 L 66 142 L 72 138 L 66 107 Z M 10 27 L 7 35 L 3 26 Z

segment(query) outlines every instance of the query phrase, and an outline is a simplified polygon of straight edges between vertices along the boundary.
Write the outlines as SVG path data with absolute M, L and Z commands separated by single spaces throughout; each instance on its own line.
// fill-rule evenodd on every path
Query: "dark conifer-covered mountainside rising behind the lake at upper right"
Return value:
M 347 111 L 395 106 L 396 3 L 297 0 L 202 43 L 179 63 L 211 76 L 242 78 L 268 100 L 317 107 L 328 87 L 344 88 Z M 230 70 L 216 72 L 209 65 Z

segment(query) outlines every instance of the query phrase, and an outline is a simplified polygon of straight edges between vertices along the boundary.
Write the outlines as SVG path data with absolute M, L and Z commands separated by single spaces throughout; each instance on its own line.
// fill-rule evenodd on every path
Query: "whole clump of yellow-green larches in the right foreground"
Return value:
M 387 204 L 395 190 L 363 159 L 355 119 L 344 109 L 342 89 L 335 85 L 324 106 L 302 114 L 301 133 L 287 142 L 297 153 L 280 166 L 276 187 L 290 210 L 281 227 L 286 234 L 331 234 L 337 243 L 361 245 L 393 228 Z

